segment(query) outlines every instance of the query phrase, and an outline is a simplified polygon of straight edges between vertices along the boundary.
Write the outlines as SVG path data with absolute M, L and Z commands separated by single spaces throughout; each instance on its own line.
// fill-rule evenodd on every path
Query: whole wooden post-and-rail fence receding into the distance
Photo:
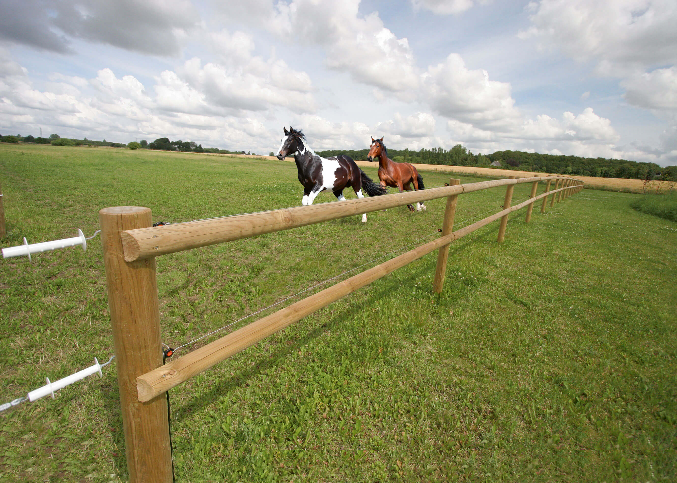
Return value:
M 552 180 L 556 180 L 556 185 L 550 191 Z M 540 181 L 547 182 L 546 189 L 536 196 Z M 560 183 L 565 181 L 567 185 L 562 184 L 560 187 Z M 559 176 L 510 177 L 465 185 L 459 183 L 460 180 L 452 179 L 445 187 L 422 191 L 223 216 L 162 227 L 151 226 L 149 208 L 122 206 L 101 210 L 108 305 L 117 360 L 129 481 L 172 481 L 167 404 L 161 398 L 167 390 L 433 250 L 439 250 L 433 289 L 440 293 L 452 242 L 498 219 L 501 219 L 501 223 L 497 241 L 502 242 L 508 214 L 529 207 L 526 217 L 528 222 L 536 201 L 543 200 L 543 213 L 548 196 L 552 196 L 552 206 L 555 197 L 559 202 L 564 199 L 561 198 L 563 193 L 567 196 L 576 193 L 583 185 L 582 181 Z M 521 183 L 532 183 L 529 199 L 510 206 L 512 190 Z M 453 231 L 458 196 L 498 186 L 506 186 L 503 210 Z M 437 198 L 447 198 L 447 204 L 441 236 L 433 242 L 294 302 L 162 365 L 156 256 Z

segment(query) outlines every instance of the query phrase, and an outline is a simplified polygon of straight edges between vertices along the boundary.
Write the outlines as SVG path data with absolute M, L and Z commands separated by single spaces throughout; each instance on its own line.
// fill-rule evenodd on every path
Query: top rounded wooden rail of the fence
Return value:
M 294 206 L 258 213 L 235 214 L 220 218 L 175 223 L 163 227 L 127 230 L 122 233 L 125 260 L 141 260 L 168 253 L 190 250 L 232 240 L 282 231 L 322 221 L 395 208 L 416 202 L 446 198 L 497 186 L 517 185 L 542 181 L 552 177 L 495 179 L 465 185 L 392 193 L 374 198 L 357 198 L 341 202 Z

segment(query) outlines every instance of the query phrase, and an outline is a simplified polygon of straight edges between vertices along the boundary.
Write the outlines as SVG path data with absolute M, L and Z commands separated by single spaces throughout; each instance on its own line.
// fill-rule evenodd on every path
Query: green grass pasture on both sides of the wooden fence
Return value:
M 177 223 L 302 194 L 289 162 L 30 145 L 0 145 L 0 184 L 3 247 L 90 236 L 108 206 Z M 461 195 L 456 227 L 503 197 Z M 677 223 L 636 197 L 585 190 L 529 224 L 515 212 L 504 244 L 498 223 L 452 244 L 442 294 L 429 254 L 171 390 L 177 481 L 674 481 Z M 162 340 L 433 239 L 444 204 L 158 257 Z M 0 260 L 0 336 L 0 403 L 107 361 L 100 239 Z M 115 369 L 0 413 L 0 480 L 125 481 Z

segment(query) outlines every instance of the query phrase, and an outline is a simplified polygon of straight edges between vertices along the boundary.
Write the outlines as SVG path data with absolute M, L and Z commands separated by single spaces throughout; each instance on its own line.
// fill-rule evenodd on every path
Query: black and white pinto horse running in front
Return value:
M 385 187 L 374 183 L 366 173 L 357 167 L 350 156 L 339 154 L 332 158 L 322 158 L 315 154 L 305 140 L 305 134 L 301 129 L 289 127 L 284 129 L 284 138 L 278 149 L 278 160 L 282 161 L 290 154 L 294 155 L 294 161 L 299 170 L 299 182 L 303 185 L 303 206 L 313 204 L 315 196 L 326 189 L 332 191 L 339 201 L 345 200 L 343 189 L 352 187 L 357 198 L 364 198 L 362 188 L 369 196 L 385 195 L 388 191 Z M 362 214 L 362 223 L 366 223 L 367 214 Z

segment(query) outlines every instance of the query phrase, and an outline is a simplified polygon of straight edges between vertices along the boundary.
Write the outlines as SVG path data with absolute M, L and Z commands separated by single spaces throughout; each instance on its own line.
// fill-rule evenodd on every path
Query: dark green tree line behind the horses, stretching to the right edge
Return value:
M 320 156 L 347 154 L 356 160 L 366 160 L 369 149 L 329 149 Z M 463 145 L 452 149 L 388 149 L 388 157 L 395 162 L 445 164 L 447 166 L 477 166 L 487 168 L 492 163 L 502 169 L 538 171 L 556 175 L 580 175 L 603 178 L 677 179 L 677 166 L 661 168 L 652 162 L 636 162 L 607 158 L 581 158 L 554 154 L 527 153 L 523 151 L 496 151 L 492 154 L 473 154 Z

